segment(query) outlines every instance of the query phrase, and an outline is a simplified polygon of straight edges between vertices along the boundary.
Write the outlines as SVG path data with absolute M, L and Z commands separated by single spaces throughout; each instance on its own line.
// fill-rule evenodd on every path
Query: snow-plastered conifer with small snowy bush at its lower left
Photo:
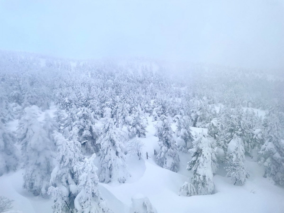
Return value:
M 189 150 L 192 159 L 187 163 L 187 169 L 193 171 L 192 184 L 196 195 L 210 195 L 214 189 L 213 172 L 217 168 L 217 159 L 212 141 L 205 135 L 193 141 Z

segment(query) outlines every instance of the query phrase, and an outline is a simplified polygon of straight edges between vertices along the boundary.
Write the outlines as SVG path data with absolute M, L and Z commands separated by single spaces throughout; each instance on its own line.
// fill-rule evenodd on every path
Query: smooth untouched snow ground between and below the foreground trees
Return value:
M 47 110 L 51 116 L 55 106 Z M 252 109 L 255 110 L 255 109 Z M 262 112 L 265 113 L 265 112 Z M 44 112 L 39 119 L 43 119 Z M 250 177 L 244 186 L 235 186 L 225 177 L 222 165 L 214 175 L 214 194 L 203 196 L 183 197 L 178 195 L 180 186 L 190 181 L 191 172 L 186 170 L 190 153 L 179 153 L 179 172 L 171 172 L 158 166 L 155 162 L 154 149 L 159 151 L 158 138 L 154 136 L 155 128 L 152 118 L 148 118 L 146 138 L 141 139 L 145 144 L 143 158 L 127 155 L 128 168 L 131 178 L 124 184 L 101 183 L 99 189 L 102 197 L 108 201 L 114 213 L 129 212 L 131 197 L 141 193 L 147 196 L 158 213 L 188 213 L 188 212 L 218 212 L 218 213 L 283 213 L 284 188 L 276 186 L 269 178 L 263 178 L 263 170 L 254 159 L 247 157 L 246 164 Z M 17 120 L 7 125 L 15 131 Z M 176 129 L 172 124 L 173 130 Z M 196 132 L 207 131 L 202 128 L 192 128 Z M 146 159 L 146 152 L 149 158 Z M 14 200 L 12 210 L 24 213 L 51 213 L 52 199 L 34 197 L 22 189 L 22 170 L 11 172 L 0 177 L 0 195 Z

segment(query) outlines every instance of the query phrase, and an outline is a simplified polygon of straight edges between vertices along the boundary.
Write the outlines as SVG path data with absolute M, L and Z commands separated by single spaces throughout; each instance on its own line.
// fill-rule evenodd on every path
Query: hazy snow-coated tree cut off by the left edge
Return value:
M 15 146 L 16 136 L 0 120 L 0 176 L 16 170 L 19 153 Z

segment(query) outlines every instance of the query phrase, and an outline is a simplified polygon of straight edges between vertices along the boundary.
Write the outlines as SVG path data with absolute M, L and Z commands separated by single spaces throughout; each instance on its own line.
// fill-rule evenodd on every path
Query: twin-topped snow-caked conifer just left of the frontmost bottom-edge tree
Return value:
M 68 206 L 74 206 L 74 199 L 79 193 L 83 155 L 81 143 L 77 140 L 78 131 L 78 128 L 74 128 L 70 132 L 70 139 L 65 139 L 59 132 L 53 134 L 58 145 L 57 165 L 51 173 L 48 194 L 54 199 L 54 213 L 66 212 Z

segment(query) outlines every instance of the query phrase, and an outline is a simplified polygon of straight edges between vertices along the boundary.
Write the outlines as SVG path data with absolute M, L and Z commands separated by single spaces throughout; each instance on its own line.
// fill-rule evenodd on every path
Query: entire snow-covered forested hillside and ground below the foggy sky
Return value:
M 283 73 L 11 51 L 0 64 L 0 212 L 283 212 Z

